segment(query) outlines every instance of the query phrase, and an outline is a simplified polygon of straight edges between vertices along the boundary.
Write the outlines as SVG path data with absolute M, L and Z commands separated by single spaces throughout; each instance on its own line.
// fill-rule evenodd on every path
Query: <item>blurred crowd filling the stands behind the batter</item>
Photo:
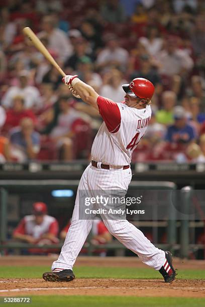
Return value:
M 205 162 L 203 0 L 0 1 L 0 163 L 89 159 L 102 120 L 74 98 L 24 37 L 38 35 L 66 74 L 124 100 L 122 84 L 155 85 L 133 162 Z

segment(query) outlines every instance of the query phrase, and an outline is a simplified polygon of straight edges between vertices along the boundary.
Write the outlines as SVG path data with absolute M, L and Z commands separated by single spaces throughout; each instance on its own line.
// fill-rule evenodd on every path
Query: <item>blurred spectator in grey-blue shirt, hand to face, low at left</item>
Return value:
M 11 131 L 10 142 L 12 156 L 18 162 L 36 159 L 40 150 L 40 134 L 34 131 L 31 118 L 22 118 L 20 127 Z

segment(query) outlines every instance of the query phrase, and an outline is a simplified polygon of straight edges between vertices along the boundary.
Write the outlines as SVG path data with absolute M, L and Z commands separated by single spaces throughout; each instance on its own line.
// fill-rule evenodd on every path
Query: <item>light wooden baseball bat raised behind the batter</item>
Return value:
M 46 47 L 41 43 L 36 34 L 29 28 L 26 27 L 23 29 L 23 33 L 29 38 L 33 45 L 44 55 L 44 57 L 59 71 L 59 73 L 64 77 L 65 73 L 56 63 L 52 55 L 48 52 Z

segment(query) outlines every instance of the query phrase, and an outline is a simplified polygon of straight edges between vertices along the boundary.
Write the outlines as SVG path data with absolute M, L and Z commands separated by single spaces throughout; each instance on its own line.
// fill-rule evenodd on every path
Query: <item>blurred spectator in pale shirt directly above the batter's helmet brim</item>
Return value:
M 96 64 L 101 69 L 115 67 L 125 71 L 128 57 L 127 50 L 119 47 L 118 38 L 112 34 L 107 36 L 107 46 L 98 54 Z

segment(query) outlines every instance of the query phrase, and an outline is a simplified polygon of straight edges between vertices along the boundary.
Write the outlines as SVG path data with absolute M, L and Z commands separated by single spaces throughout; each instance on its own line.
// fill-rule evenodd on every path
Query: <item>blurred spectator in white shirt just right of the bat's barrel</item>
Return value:
M 42 21 L 43 32 L 38 34 L 39 38 L 45 35 L 48 37 L 48 47 L 58 54 L 59 60 L 65 60 L 72 54 L 72 45 L 65 32 L 55 28 L 55 20 L 51 16 L 45 16 Z

